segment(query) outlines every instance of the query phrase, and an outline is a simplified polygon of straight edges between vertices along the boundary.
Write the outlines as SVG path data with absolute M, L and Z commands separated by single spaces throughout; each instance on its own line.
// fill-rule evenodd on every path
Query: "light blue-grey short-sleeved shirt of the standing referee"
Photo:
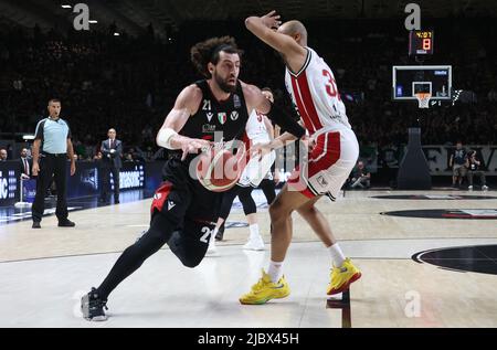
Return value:
M 34 131 L 34 139 L 42 141 L 41 150 L 52 155 L 66 153 L 68 138 L 71 138 L 71 129 L 61 118 L 57 120 L 44 118 L 38 123 Z

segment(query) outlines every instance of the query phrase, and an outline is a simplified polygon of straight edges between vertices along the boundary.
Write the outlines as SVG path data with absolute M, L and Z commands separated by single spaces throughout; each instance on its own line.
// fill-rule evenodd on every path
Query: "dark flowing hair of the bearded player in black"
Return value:
M 197 71 L 210 78 L 211 73 L 208 70 L 208 64 L 218 64 L 221 51 L 236 53 L 240 57 L 243 55 L 243 51 L 239 49 L 233 36 L 221 36 L 194 44 L 190 49 L 190 59 Z

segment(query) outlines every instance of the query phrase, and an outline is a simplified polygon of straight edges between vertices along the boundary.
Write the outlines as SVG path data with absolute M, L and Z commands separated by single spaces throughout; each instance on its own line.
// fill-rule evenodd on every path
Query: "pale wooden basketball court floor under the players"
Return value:
M 497 197 L 495 191 L 429 194 L 463 193 Z M 353 191 L 335 203 L 318 203 L 343 252 L 362 271 L 349 303 L 327 300 L 329 256 L 294 214 L 294 242 L 284 268 L 290 296 L 264 306 L 240 305 L 237 297 L 267 265 L 269 218 L 266 209 L 258 211 L 266 251 L 246 252 L 242 245 L 248 230 L 234 210 L 229 222 L 241 227 L 225 231 L 216 256 L 188 269 L 165 247 L 110 295 L 112 317 L 99 325 L 81 319 L 78 298 L 147 230 L 150 200 L 72 212 L 75 229 L 56 227 L 54 216 L 45 218 L 41 230 L 32 230 L 29 221 L 0 225 L 0 327 L 497 327 L 497 275 L 412 259 L 424 251 L 497 245 L 496 220 L 381 214 L 495 210 L 497 199 L 371 198 L 379 194 L 426 192 Z M 493 256 L 451 258 L 461 266 L 497 267 Z

